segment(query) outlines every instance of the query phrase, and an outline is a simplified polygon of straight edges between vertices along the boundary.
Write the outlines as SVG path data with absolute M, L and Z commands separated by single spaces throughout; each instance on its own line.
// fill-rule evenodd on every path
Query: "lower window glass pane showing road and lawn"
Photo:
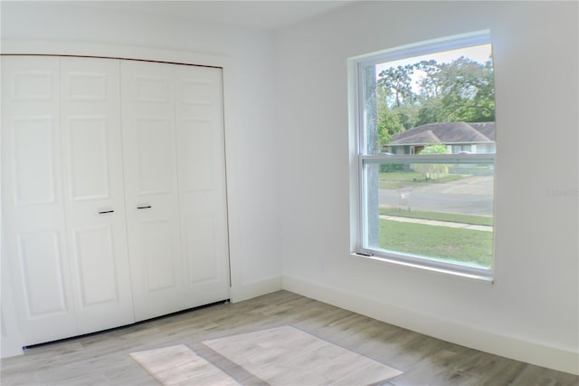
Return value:
M 490 162 L 366 161 L 365 247 L 490 267 L 494 190 Z

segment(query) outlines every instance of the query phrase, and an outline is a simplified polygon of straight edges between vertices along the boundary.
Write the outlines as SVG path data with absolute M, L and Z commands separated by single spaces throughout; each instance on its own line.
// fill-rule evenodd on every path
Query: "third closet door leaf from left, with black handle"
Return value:
M 137 320 L 187 308 L 179 247 L 174 68 L 121 63 L 128 243 Z

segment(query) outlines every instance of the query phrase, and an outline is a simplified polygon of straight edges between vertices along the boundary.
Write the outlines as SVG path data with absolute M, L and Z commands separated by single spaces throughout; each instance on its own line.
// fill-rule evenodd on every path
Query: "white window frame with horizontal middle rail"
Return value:
M 353 256 L 376 259 L 397 265 L 413 266 L 439 273 L 460 275 L 489 283 L 494 276 L 494 250 L 489 268 L 460 264 L 428 256 L 384 251 L 365 247 L 367 236 L 366 220 L 368 205 L 365 202 L 365 164 L 388 161 L 392 163 L 489 163 L 494 166 L 495 154 L 432 154 L 432 155 L 368 155 L 365 153 L 365 101 L 364 68 L 368 64 L 384 63 L 428 53 L 450 51 L 452 49 L 490 42 L 489 31 L 460 34 L 449 38 L 434 39 L 396 47 L 377 53 L 368 53 L 348 59 L 348 113 L 350 140 L 350 252 Z M 494 207 L 494 202 L 493 202 Z M 494 208 L 493 208 L 494 212 Z M 494 213 L 493 213 L 494 216 Z M 493 238 L 494 238 L 493 230 Z M 494 248 L 494 242 L 493 242 Z

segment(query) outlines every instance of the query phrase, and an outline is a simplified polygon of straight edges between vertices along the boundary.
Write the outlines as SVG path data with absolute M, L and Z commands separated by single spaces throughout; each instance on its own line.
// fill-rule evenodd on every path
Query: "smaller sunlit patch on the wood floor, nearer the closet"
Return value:
M 143 366 L 153 378 L 166 386 L 239 386 L 237 381 L 210 362 L 205 361 L 204 358 L 184 344 L 131 352 L 130 356 Z

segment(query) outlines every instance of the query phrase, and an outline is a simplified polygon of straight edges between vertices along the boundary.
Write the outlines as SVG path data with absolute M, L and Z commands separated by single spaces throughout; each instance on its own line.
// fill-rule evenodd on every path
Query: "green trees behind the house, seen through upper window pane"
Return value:
M 418 91 L 414 72 L 422 75 Z M 376 109 L 380 145 L 426 123 L 495 121 L 492 61 L 461 56 L 451 63 L 430 60 L 384 69 L 378 74 Z

